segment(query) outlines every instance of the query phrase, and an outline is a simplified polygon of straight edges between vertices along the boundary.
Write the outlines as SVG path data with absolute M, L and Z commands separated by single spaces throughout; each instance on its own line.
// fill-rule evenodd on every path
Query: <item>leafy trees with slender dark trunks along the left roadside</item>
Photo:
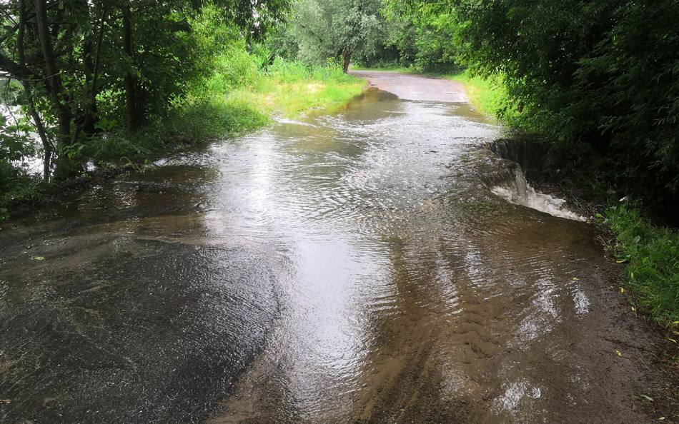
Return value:
M 0 73 L 6 85 L 19 81 L 9 104 L 26 119 L 5 120 L 0 168 L 20 150 L 6 146 L 26 153 L 35 133 L 45 179 L 78 173 L 83 146 L 167 113 L 172 99 L 208 76 L 228 39 L 257 36 L 286 9 L 286 0 L 2 2 Z

